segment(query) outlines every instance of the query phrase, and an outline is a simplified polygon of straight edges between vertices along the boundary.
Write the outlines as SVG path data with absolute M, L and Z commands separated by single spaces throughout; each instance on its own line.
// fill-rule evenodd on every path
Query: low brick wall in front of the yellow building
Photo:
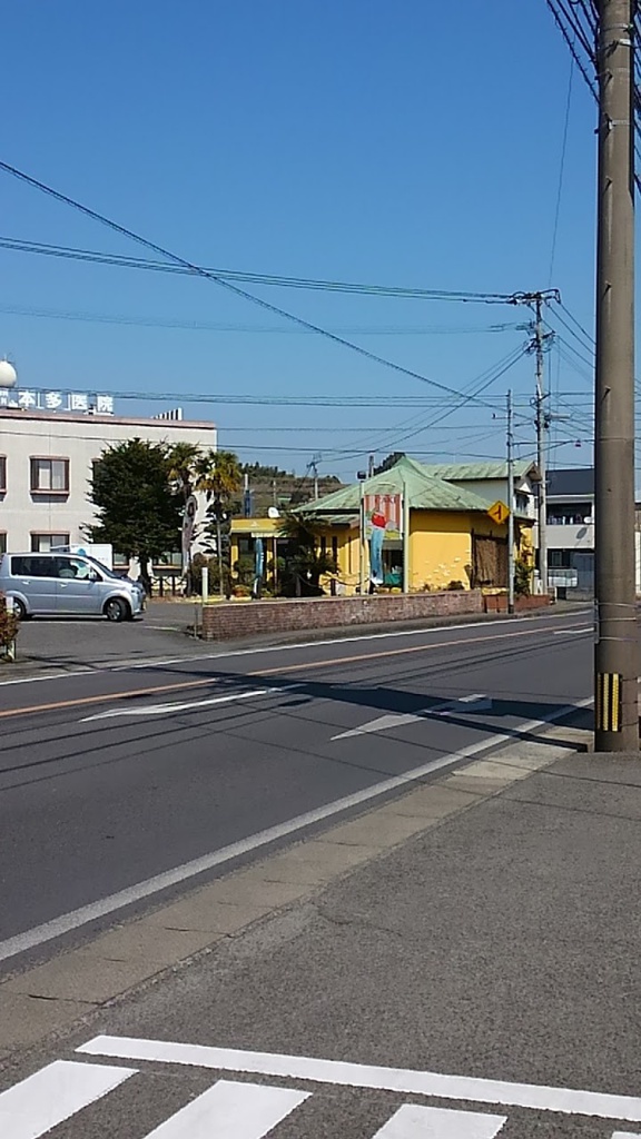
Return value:
M 466 613 L 482 613 L 482 597 L 479 590 L 381 593 L 372 597 L 314 597 L 281 601 L 229 601 L 205 606 L 203 639 L 234 640 L 258 633 L 376 625 Z

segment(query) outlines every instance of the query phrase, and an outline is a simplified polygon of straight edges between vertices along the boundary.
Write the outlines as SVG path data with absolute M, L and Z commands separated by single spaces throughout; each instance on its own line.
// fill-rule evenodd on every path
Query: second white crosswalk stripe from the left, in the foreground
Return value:
M 307 1098 L 306 1091 L 219 1080 L 145 1139 L 262 1139 Z

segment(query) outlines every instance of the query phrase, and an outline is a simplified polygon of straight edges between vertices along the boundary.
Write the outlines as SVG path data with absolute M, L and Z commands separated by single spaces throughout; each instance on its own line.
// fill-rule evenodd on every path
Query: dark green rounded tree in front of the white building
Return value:
M 170 450 L 140 439 L 108 448 L 94 465 L 90 499 L 98 522 L 91 540 L 138 558 L 147 591 L 149 563 L 175 549 L 180 533 L 184 495 L 171 469 Z

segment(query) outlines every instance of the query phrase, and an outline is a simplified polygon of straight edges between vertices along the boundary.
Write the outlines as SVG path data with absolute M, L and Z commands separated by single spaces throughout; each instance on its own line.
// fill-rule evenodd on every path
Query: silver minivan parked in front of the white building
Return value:
M 145 608 L 141 584 L 80 554 L 3 554 L 0 591 L 18 617 L 130 621 Z

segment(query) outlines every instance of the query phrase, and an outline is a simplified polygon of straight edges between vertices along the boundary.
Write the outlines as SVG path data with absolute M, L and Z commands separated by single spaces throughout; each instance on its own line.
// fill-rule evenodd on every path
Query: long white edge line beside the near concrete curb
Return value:
M 568 704 L 565 707 L 557 708 L 555 712 L 543 720 L 527 720 L 524 723 L 517 724 L 514 731 L 536 731 L 549 723 L 554 723 L 555 720 L 562 720 L 563 716 L 569 715 L 577 708 L 587 707 L 590 704 L 592 704 L 591 696 L 578 700 L 576 704 Z M 386 795 L 388 792 L 397 790 L 399 787 L 409 787 L 411 784 L 417 779 L 422 779 L 424 776 L 440 771 L 441 768 L 449 768 L 462 760 L 469 759 L 471 755 L 478 755 L 479 752 L 496 748 L 504 743 L 505 735 L 503 732 L 495 736 L 487 736 L 485 739 L 477 740 L 476 744 L 462 747 L 460 752 L 455 752 L 453 755 L 443 755 L 438 760 L 429 760 L 427 763 L 422 763 L 417 768 L 412 768 L 400 776 L 383 779 L 381 782 L 373 784 L 371 787 L 364 787 L 363 790 L 357 790 L 352 795 L 346 795 L 344 798 L 333 800 L 333 802 L 326 803 L 324 806 L 318 806 L 314 811 L 306 811 L 305 814 L 287 819 L 286 822 L 279 822 L 267 830 L 259 830 L 257 834 L 250 835 L 248 838 L 241 838 L 240 842 L 232 843 L 229 846 L 222 846 L 210 854 L 203 854 L 202 858 L 184 862 L 172 870 L 165 870 L 153 878 L 146 878 L 133 886 L 120 890 L 115 894 L 108 894 L 106 898 L 90 902 L 88 906 L 81 906 L 78 910 L 62 913 L 59 917 L 52 918 L 51 921 L 44 921 L 42 925 L 33 926 L 24 933 L 16 934 L 15 937 L 7 937 L 5 941 L 0 941 L 0 961 L 6 961 L 10 957 L 17 957 L 18 953 L 24 953 L 27 949 L 34 949 L 35 945 L 43 945 L 48 941 L 54 941 L 55 937 L 62 937 L 63 934 L 70 933 L 72 929 L 80 929 L 82 926 L 89 925 L 90 921 L 96 921 L 97 918 L 105 917 L 107 913 L 115 913 L 117 910 L 122 910 L 127 906 L 132 906 L 144 898 L 151 898 L 153 894 L 157 894 L 169 886 L 188 882 L 189 878 L 195 878 L 196 875 L 212 870 L 217 866 L 224 866 L 226 862 L 230 862 L 242 854 L 249 854 L 252 851 L 260 850 L 261 846 L 267 846 L 269 843 L 275 843 L 281 838 L 286 838 L 289 835 L 294 835 L 315 822 L 331 819 L 342 811 L 348 811 L 352 806 L 360 806 L 362 803 L 368 803 L 371 800 L 379 798 L 379 796 Z

